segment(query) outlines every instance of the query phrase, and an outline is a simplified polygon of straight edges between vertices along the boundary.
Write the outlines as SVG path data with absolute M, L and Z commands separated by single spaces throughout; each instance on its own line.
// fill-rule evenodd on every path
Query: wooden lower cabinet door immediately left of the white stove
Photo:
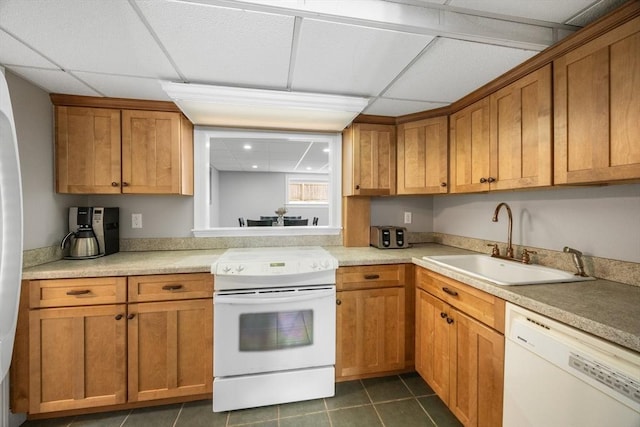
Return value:
M 129 401 L 211 393 L 213 301 L 129 304 Z

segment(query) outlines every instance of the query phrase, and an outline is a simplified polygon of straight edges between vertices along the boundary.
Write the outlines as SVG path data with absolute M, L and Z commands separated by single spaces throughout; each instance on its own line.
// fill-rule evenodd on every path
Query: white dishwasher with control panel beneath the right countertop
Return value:
M 640 354 L 507 303 L 504 427 L 640 427 Z

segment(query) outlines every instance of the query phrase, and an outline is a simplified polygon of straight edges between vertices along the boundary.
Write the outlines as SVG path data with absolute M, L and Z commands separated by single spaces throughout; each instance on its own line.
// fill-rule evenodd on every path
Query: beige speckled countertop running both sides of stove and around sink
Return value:
M 413 263 L 459 280 L 595 336 L 640 352 L 640 286 L 608 280 L 551 285 L 498 286 L 422 260 L 429 255 L 472 253 L 435 243 L 408 249 L 328 246 L 340 266 Z M 120 252 L 94 260 L 60 260 L 26 268 L 24 280 L 133 276 L 211 271 L 225 249 Z

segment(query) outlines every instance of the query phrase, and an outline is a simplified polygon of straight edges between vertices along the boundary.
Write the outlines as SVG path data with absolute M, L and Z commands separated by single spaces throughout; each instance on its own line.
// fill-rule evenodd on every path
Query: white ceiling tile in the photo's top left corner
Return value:
M 1 5 L 0 27 L 63 69 L 178 77 L 128 2 L 2 0 Z

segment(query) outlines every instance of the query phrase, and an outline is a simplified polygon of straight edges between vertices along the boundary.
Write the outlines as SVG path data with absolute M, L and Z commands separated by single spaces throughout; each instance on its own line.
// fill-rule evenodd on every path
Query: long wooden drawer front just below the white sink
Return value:
M 416 286 L 504 334 L 504 300 L 424 268 Z

